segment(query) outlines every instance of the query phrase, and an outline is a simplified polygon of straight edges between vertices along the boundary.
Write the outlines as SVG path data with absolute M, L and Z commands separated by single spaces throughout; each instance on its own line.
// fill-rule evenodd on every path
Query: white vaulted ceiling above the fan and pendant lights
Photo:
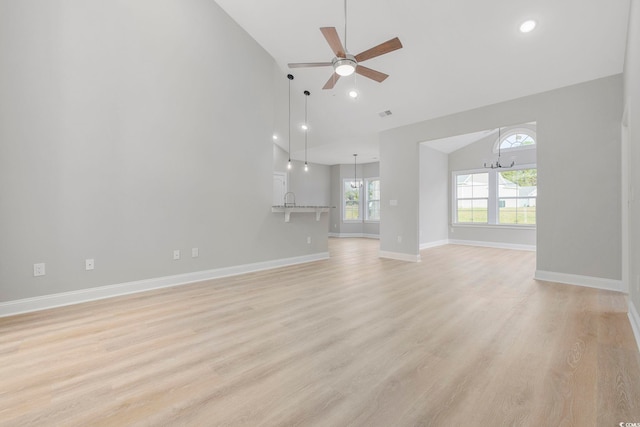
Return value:
M 329 68 L 289 69 L 289 62 L 333 58 L 319 28 L 336 27 L 344 42 L 343 0 L 216 0 L 273 58 L 282 96 L 291 82 L 292 124 L 308 98 L 309 161 L 377 160 L 380 131 L 622 72 L 629 0 L 349 0 L 352 54 L 399 37 L 404 47 L 363 65 L 390 75 L 382 83 L 357 76 L 322 90 Z M 518 31 L 526 19 L 538 27 Z M 298 96 L 299 95 L 299 96 Z M 391 110 L 391 116 L 378 113 Z M 287 118 L 274 132 L 287 149 Z M 304 137 L 292 130 L 292 157 Z

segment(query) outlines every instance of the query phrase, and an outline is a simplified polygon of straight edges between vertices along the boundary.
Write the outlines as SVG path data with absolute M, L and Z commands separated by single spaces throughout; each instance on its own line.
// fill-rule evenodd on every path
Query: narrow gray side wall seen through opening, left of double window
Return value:
M 420 146 L 420 245 L 446 241 L 449 224 L 448 155 Z

